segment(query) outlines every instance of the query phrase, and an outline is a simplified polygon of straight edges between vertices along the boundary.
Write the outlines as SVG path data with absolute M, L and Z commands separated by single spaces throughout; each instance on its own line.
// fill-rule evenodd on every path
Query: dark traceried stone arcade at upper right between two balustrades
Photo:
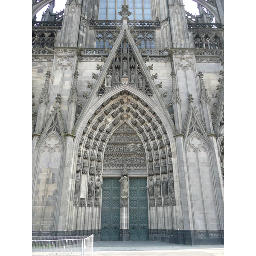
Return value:
M 195 33 L 194 34 L 195 47 L 206 49 L 223 49 L 221 36 L 211 33 Z

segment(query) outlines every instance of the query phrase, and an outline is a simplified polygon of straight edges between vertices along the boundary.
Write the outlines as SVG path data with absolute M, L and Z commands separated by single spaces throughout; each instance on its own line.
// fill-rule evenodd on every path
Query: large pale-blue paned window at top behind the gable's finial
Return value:
M 100 0 L 99 20 L 121 20 L 118 12 L 124 4 L 124 0 Z M 150 0 L 127 0 L 127 4 L 132 13 L 129 20 L 151 20 Z

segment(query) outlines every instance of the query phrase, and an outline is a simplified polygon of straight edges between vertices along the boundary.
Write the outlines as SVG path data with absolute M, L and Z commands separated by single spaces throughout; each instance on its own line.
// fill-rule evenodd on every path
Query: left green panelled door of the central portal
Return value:
M 119 178 L 103 178 L 101 240 L 119 241 L 120 232 Z

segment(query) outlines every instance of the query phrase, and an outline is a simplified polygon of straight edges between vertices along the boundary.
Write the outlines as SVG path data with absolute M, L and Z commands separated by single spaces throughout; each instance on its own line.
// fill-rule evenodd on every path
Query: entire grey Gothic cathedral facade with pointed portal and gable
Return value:
M 224 243 L 224 2 L 194 2 L 32 1 L 33 236 Z

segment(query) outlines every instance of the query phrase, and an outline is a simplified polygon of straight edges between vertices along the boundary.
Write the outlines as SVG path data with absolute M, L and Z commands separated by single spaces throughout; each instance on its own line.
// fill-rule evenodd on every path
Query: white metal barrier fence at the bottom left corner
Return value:
M 93 235 L 33 236 L 32 256 L 92 256 Z

